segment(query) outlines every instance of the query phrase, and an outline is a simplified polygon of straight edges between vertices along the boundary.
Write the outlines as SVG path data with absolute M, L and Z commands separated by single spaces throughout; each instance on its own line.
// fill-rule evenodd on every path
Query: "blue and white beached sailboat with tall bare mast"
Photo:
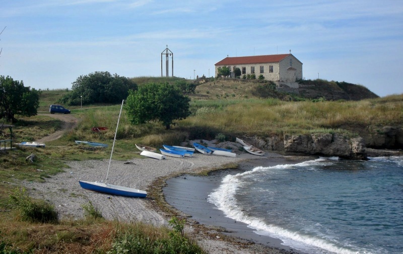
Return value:
M 83 189 L 86 189 L 89 191 L 100 192 L 100 193 L 105 193 L 105 194 L 109 194 L 109 195 L 123 196 L 123 197 L 145 198 L 147 196 L 146 191 L 118 186 L 118 185 L 111 185 L 111 184 L 106 183 L 106 181 L 108 180 L 110 162 L 112 160 L 113 148 L 115 147 L 116 133 L 117 133 L 117 128 L 119 126 L 119 120 L 120 120 L 120 115 L 122 113 L 123 103 L 124 103 L 124 100 L 122 101 L 122 106 L 120 107 L 119 117 L 117 119 L 115 138 L 113 139 L 112 151 L 110 153 L 109 165 L 108 165 L 108 171 L 106 173 L 105 183 L 88 182 L 88 181 L 81 181 L 81 180 L 79 180 L 79 183 Z

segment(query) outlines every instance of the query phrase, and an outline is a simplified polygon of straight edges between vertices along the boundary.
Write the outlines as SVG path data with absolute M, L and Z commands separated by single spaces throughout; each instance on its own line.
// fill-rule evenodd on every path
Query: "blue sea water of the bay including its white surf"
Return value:
M 403 157 L 259 166 L 226 176 L 208 200 L 304 252 L 403 253 Z

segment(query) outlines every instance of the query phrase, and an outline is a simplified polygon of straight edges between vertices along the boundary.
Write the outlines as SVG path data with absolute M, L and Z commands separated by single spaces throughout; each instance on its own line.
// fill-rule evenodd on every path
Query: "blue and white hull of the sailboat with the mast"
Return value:
M 147 197 L 147 192 L 142 190 L 137 190 L 133 188 L 127 188 L 118 185 L 104 184 L 98 182 L 87 182 L 79 180 L 80 186 L 83 189 L 105 193 L 109 195 L 130 197 L 130 198 L 145 198 Z

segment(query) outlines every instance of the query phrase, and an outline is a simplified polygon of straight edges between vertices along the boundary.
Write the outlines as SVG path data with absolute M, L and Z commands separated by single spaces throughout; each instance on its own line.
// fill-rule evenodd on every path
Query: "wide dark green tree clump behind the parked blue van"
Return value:
M 129 78 L 111 75 L 108 71 L 95 71 L 79 76 L 74 81 L 72 93 L 61 98 L 68 105 L 91 103 L 118 103 L 126 99 L 129 90 L 136 90 L 137 84 Z

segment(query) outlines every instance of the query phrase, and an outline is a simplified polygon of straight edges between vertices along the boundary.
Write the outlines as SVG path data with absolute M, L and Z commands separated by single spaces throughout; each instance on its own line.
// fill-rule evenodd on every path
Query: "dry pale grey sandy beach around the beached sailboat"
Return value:
M 160 177 L 174 174 L 197 173 L 211 168 L 220 167 L 226 163 L 241 163 L 248 161 L 253 166 L 253 160 L 264 159 L 286 163 L 293 161 L 276 153 L 268 153 L 263 157 L 245 152 L 237 152 L 237 157 L 204 155 L 194 153 L 193 157 L 157 160 L 152 158 L 134 158 L 127 161 L 112 160 L 107 183 L 148 191 L 152 183 Z M 280 159 L 281 158 L 281 159 Z M 280 159 L 280 160 L 279 160 Z M 295 159 L 295 158 L 294 158 Z M 299 160 L 302 160 L 299 157 Z M 84 217 L 83 204 L 89 201 L 97 207 L 106 219 L 124 221 L 142 221 L 154 225 L 167 225 L 169 215 L 153 206 L 152 198 L 126 198 L 110 196 L 84 190 L 78 180 L 105 182 L 109 160 L 70 161 L 69 168 L 63 168 L 64 173 L 46 178 L 44 183 L 23 182 L 30 195 L 52 203 L 60 218 L 80 219 Z M 245 164 L 246 166 L 246 164 Z M 198 222 L 193 221 L 198 224 Z M 188 233 L 194 233 L 192 222 L 186 226 Z M 197 231 L 196 239 L 209 253 L 293 253 L 276 247 L 267 247 L 252 240 L 220 237 L 214 229 Z M 223 239 L 225 238 L 225 240 Z

